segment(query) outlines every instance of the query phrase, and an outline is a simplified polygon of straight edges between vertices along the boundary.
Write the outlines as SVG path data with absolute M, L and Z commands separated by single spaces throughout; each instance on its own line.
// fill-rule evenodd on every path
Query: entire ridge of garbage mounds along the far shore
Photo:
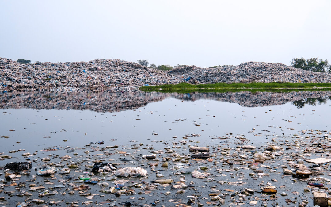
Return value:
M 0 88 L 4 90 L 134 91 L 143 85 L 250 82 L 331 82 L 329 73 L 317 73 L 280 63 L 247 62 L 238 66 L 171 71 L 147 68 L 115 59 L 89 62 L 20 64 L 0 58 Z

